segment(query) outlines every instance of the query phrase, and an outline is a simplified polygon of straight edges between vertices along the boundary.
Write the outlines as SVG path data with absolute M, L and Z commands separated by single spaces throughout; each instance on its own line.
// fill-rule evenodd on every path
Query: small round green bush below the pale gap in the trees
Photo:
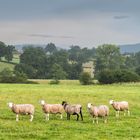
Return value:
M 90 85 L 92 84 L 92 78 L 90 76 L 89 73 L 87 72 L 83 72 L 81 75 L 80 75 L 80 79 L 79 79 L 80 83 L 82 85 Z

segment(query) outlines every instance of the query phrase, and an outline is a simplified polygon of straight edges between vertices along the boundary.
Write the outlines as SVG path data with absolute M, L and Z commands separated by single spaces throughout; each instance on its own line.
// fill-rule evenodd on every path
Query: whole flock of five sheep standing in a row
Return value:
M 70 105 L 66 101 L 63 101 L 62 104 L 47 104 L 44 100 L 40 101 L 42 106 L 42 110 L 45 113 L 46 120 L 49 120 L 49 114 L 60 114 L 61 119 L 63 118 L 63 113 L 66 112 L 67 120 L 70 120 L 70 115 L 77 115 L 77 121 L 79 119 L 79 115 L 81 120 L 83 120 L 82 115 L 82 106 L 80 104 Z M 109 101 L 109 104 L 113 106 L 116 111 L 116 117 L 119 117 L 120 111 L 127 111 L 128 116 L 130 116 L 129 104 L 126 101 L 116 102 L 113 100 Z M 14 104 L 8 103 L 8 106 L 11 110 L 16 114 L 16 121 L 19 120 L 19 114 L 21 115 L 30 115 L 30 121 L 32 122 L 34 118 L 35 107 L 32 104 Z M 93 117 L 93 123 L 96 121 L 98 124 L 98 117 L 102 117 L 104 119 L 104 123 L 107 123 L 107 117 L 109 116 L 109 107 L 106 105 L 95 106 L 91 103 L 87 104 L 88 111 L 90 115 Z

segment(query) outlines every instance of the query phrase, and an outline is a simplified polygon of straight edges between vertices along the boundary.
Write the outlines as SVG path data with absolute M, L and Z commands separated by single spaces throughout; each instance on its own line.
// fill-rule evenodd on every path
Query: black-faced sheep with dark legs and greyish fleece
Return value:
M 80 104 L 77 105 L 69 105 L 66 101 L 62 102 L 65 112 L 67 113 L 67 120 L 70 120 L 70 115 L 77 115 L 77 121 L 79 119 L 79 114 L 81 116 L 81 120 L 83 120 L 82 115 L 82 106 Z

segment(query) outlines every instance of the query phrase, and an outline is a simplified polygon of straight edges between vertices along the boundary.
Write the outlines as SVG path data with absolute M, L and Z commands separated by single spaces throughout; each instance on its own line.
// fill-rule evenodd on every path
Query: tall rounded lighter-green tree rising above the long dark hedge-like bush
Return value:
M 104 44 L 96 50 L 96 71 L 104 69 L 120 69 L 124 65 L 124 58 L 120 49 L 111 44 Z

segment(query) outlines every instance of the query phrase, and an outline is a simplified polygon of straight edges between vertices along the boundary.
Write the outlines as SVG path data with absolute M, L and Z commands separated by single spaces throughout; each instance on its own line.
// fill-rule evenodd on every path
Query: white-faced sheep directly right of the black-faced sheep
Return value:
M 109 108 L 106 105 L 93 106 L 91 103 L 87 104 L 88 111 L 93 117 L 93 123 L 98 124 L 98 117 L 104 118 L 104 123 L 107 123 L 107 116 L 109 115 Z

